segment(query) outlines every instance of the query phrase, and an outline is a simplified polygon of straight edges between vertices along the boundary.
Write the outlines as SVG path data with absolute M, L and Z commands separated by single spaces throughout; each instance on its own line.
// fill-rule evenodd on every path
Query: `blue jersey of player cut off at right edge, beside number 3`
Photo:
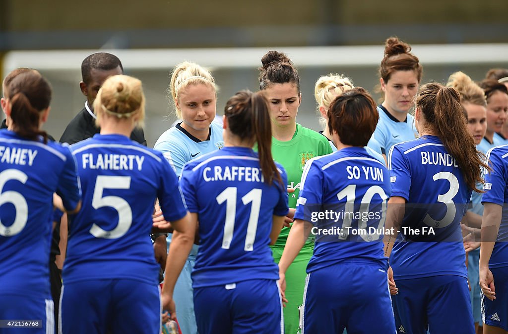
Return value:
M 508 266 L 508 145 L 497 146 L 487 153 L 492 172 L 485 175 L 482 203 L 496 203 L 503 207 L 501 225 L 492 250 L 489 267 Z

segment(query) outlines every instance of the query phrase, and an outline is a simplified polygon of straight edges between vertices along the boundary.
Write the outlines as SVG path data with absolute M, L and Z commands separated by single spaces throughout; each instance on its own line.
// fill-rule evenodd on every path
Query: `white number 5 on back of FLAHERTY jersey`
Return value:
M 129 189 L 130 176 L 99 175 L 96 187 L 93 190 L 92 206 L 99 209 L 105 206 L 112 207 L 118 212 L 118 225 L 111 231 L 103 230 L 99 225 L 93 224 L 90 233 L 96 238 L 117 239 L 122 237 L 132 225 L 132 210 L 127 201 L 118 196 L 102 196 L 104 189 Z

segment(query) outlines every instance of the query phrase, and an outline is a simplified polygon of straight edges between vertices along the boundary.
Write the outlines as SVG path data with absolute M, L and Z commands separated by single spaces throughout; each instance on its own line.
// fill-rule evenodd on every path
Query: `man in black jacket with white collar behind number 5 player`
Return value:
M 79 88 L 86 96 L 85 106 L 63 131 L 60 142 L 74 144 L 100 132 L 101 129 L 95 124 L 93 101 L 104 81 L 119 74 L 123 74 L 122 63 L 118 57 L 110 53 L 94 53 L 83 60 L 81 63 L 83 81 L 79 83 Z M 131 139 L 146 146 L 145 134 L 141 128 L 133 130 Z

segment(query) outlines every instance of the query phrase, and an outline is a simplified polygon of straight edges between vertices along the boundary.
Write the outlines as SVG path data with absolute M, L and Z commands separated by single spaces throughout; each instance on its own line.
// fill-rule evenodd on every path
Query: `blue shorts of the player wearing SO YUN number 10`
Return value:
M 394 333 L 387 265 L 347 261 L 307 275 L 303 333 Z

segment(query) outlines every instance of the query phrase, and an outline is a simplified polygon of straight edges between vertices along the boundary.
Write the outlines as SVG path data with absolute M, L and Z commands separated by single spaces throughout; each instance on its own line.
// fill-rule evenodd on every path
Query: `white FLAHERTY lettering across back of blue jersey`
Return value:
M 105 170 L 141 170 L 144 156 L 135 154 L 92 154 L 85 153 L 81 157 L 83 169 L 105 169 Z M 136 163 L 136 166 L 134 165 Z

